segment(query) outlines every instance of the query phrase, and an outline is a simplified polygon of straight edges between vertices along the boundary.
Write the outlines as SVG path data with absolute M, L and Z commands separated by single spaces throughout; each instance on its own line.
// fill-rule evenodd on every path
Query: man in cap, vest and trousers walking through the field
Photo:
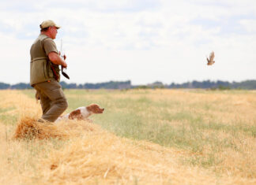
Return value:
M 58 68 L 58 65 L 66 68 L 66 56 L 62 60 L 53 40 L 60 26 L 52 20 L 45 20 L 40 28 L 41 33 L 30 49 L 30 85 L 40 98 L 43 116 L 39 121 L 54 122 L 68 106 L 59 84 Z

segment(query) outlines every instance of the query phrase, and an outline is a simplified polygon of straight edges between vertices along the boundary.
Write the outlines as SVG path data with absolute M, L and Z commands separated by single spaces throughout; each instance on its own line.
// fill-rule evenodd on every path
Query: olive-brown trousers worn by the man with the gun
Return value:
M 55 122 L 68 107 L 62 86 L 56 80 L 51 80 L 36 83 L 33 87 L 40 96 L 40 104 L 43 110 L 42 119 Z

